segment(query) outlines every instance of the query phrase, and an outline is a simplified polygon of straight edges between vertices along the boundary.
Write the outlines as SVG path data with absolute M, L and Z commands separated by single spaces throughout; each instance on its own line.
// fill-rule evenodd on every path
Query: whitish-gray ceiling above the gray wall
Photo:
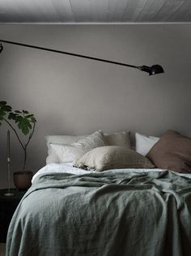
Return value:
M 0 0 L 0 23 L 191 22 L 191 0 Z

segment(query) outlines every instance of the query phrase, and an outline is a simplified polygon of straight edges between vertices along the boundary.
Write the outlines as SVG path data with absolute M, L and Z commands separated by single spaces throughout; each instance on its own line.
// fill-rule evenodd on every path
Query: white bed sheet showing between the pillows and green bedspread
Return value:
M 143 172 L 161 172 L 164 171 L 164 169 L 109 169 L 104 171 L 105 172 L 112 172 L 112 173 L 117 173 L 117 172 L 122 172 L 122 173 L 129 173 L 129 172 L 138 172 L 138 173 L 143 173 Z M 84 169 L 79 169 L 75 168 L 72 166 L 72 163 L 64 163 L 64 164 L 47 164 L 45 167 L 40 169 L 33 177 L 32 177 L 32 182 L 36 179 L 36 177 L 42 173 L 71 173 L 71 174 L 84 174 L 84 173 L 95 173 L 95 171 L 90 170 L 84 170 Z M 191 178 L 191 173 L 177 173 L 180 176 L 184 177 L 189 177 Z

